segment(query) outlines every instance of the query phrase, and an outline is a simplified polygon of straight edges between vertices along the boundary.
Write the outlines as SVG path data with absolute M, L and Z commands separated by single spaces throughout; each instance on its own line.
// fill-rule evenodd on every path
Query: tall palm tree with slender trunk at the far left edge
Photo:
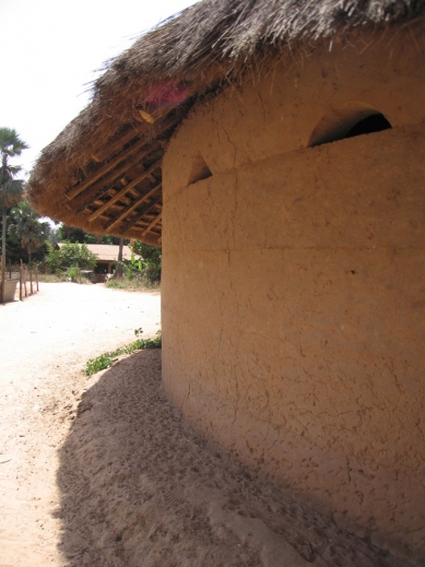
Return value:
M 1 255 L 2 255 L 2 277 L 1 277 L 1 298 L 4 296 L 4 267 L 5 267 L 5 223 L 7 210 L 22 200 L 24 192 L 24 181 L 15 179 L 21 172 L 21 166 L 10 165 L 9 158 L 21 155 L 23 150 L 28 146 L 20 139 L 16 130 L 11 128 L 0 128 L 0 206 L 2 220 L 1 234 Z

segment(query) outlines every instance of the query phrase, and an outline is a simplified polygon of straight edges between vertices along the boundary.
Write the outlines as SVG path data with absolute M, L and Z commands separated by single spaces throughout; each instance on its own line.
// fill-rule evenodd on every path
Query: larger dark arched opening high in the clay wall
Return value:
M 308 146 L 327 144 L 392 128 L 387 118 L 366 103 L 346 103 L 328 113 L 314 129 Z

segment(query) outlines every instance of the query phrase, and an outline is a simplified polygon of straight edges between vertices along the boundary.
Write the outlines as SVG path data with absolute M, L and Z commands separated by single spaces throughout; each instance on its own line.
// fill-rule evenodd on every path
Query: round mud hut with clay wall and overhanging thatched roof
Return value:
M 29 180 L 163 247 L 163 380 L 211 442 L 425 560 L 424 1 L 203 0 Z

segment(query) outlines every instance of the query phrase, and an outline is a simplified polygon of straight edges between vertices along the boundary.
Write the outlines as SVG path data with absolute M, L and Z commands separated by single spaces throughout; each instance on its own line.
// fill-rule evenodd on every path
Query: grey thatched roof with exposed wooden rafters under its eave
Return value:
M 42 153 L 27 184 L 42 214 L 161 244 L 162 157 L 200 96 L 252 61 L 425 13 L 425 0 L 202 0 L 106 63 L 92 103 Z

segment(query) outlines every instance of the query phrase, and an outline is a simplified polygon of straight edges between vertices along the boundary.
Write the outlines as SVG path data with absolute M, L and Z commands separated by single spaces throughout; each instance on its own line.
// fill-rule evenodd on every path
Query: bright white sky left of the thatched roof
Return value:
M 102 63 L 196 0 L 0 0 L 0 127 L 39 152 L 88 102 Z

